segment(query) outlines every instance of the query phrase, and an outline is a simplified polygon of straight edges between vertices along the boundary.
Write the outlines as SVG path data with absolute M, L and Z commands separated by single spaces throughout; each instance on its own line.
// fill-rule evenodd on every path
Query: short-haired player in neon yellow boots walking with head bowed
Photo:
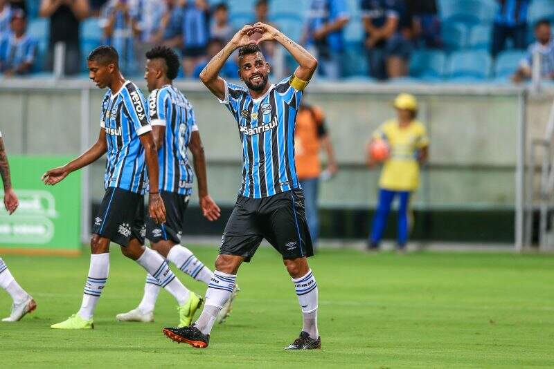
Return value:
M 166 209 L 158 190 L 158 155 L 143 94 L 121 75 L 118 54 L 113 47 L 98 46 L 89 54 L 87 62 L 90 79 L 99 88 L 108 88 L 102 100 L 98 141 L 79 158 L 44 173 L 43 180 L 46 185 L 55 185 L 72 171 L 107 153 L 106 193 L 92 228 L 91 263 L 81 308 L 66 321 L 51 327 L 70 330 L 94 327 L 93 312 L 109 273 L 110 241 L 119 244 L 125 256 L 139 263 L 175 297 L 179 304 L 179 325 L 188 325 L 202 299 L 175 278 L 160 254 L 143 246 L 145 191 L 150 191 L 150 218 L 159 225 L 166 221 Z

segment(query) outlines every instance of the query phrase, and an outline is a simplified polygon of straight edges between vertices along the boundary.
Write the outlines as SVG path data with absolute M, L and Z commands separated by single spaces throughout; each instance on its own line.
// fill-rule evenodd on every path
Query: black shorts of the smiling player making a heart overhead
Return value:
M 284 259 L 314 255 L 301 189 L 267 198 L 238 196 L 225 226 L 220 254 L 243 256 L 248 262 L 263 238 Z

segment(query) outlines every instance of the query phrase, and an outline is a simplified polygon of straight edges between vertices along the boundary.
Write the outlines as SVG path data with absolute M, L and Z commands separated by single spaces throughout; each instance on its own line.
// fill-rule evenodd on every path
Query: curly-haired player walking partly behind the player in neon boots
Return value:
M 193 106 L 172 85 L 179 70 L 177 53 L 166 46 L 146 53 L 144 78 L 150 91 L 148 109 L 152 133 L 158 149 L 160 167 L 159 190 L 166 206 L 166 223 L 157 225 L 146 221 L 146 238 L 156 250 L 181 271 L 208 285 L 213 272 L 197 259 L 188 248 L 180 245 L 185 211 L 193 192 L 193 169 L 188 163 L 187 149 L 193 153 L 193 164 L 198 181 L 200 208 L 208 220 L 220 217 L 220 208 L 208 194 L 206 160 Z M 129 312 L 117 314 L 119 321 L 154 321 L 154 305 L 160 285 L 150 274 L 146 276 L 143 299 Z M 231 309 L 231 299 L 220 314 L 220 321 Z

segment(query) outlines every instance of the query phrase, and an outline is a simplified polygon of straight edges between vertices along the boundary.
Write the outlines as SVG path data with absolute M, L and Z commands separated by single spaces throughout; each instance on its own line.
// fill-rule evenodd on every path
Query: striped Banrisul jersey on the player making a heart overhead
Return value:
M 247 88 L 225 82 L 225 100 L 242 141 L 240 195 L 263 198 L 300 188 L 294 164 L 294 123 L 306 82 L 294 75 L 253 99 Z

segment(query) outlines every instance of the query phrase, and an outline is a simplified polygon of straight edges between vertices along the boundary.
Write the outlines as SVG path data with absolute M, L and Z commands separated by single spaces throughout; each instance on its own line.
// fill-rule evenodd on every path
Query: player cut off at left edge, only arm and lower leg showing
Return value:
M 8 163 L 8 155 L 6 155 L 6 149 L 4 149 L 4 142 L 2 133 L 0 132 L 0 176 L 2 177 L 2 183 L 4 186 L 3 200 L 4 206 L 8 211 L 8 214 L 12 215 L 13 212 L 19 206 L 19 200 L 12 188 L 12 179 L 10 176 L 10 164 Z M 37 308 L 37 303 L 33 300 L 21 286 L 15 278 L 13 278 L 8 269 L 8 265 L 0 258 L 0 287 L 6 290 L 12 297 L 13 305 L 10 316 L 3 318 L 2 321 L 19 321 L 28 312 L 32 312 Z

